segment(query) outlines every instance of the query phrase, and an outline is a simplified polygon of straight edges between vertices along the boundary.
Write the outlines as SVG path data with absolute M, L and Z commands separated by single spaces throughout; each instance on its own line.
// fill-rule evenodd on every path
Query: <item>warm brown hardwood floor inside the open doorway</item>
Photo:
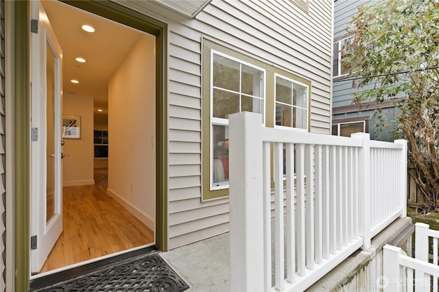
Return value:
M 154 232 L 106 194 L 106 169 L 95 185 L 63 188 L 63 232 L 40 273 L 154 242 Z

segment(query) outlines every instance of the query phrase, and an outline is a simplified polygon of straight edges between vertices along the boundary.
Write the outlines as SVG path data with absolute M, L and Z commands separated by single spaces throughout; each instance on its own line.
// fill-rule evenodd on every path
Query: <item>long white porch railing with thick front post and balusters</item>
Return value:
M 229 127 L 231 291 L 303 291 L 405 217 L 406 141 L 273 129 L 249 112 Z

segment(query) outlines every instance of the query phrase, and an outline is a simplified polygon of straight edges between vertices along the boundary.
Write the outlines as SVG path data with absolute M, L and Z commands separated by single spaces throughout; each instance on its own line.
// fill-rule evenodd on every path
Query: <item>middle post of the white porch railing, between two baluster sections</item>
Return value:
M 359 179 L 359 229 L 363 237 L 363 249 L 370 247 L 370 135 L 368 133 L 351 134 L 352 138 L 363 140 L 361 147 L 357 173 Z

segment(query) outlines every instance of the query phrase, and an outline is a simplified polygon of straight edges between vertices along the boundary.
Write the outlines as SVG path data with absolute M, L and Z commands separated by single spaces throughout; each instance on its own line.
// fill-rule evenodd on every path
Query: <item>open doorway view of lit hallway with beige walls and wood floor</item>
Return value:
M 64 3 L 42 3 L 63 50 L 62 116 L 79 117 L 81 134 L 62 140 L 64 231 L 40 274 L 154 244 L 157 228 L 156 37 Z M 94 23 L 94 35 L 73 37 L 71 29 L 82 23 Z M 99 32 L 106 32 L 103 39 L 93 39 Z M 104 62 L 93 61 L 107 53 Z M 107 140 L 97 141 L 96 132 Z M 104 145 L 108 158 L 95 157 Z M 128 242 L 123 223 L 143 235 Z M 107 247 L 99 250 L 99 242 Z

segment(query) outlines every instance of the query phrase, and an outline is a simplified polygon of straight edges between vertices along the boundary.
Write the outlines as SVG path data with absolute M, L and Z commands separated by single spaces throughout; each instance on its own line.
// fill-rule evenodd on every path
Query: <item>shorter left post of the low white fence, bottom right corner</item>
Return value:
M 399 256 L 401 256 L 401 247 L 384 245 L 383 277 L 377 280 L 377 286 L 381 287 L 383 292 L 401 291 L 401 282 L 403 281 L 401 279 L 401 268 L 399 267 Z

